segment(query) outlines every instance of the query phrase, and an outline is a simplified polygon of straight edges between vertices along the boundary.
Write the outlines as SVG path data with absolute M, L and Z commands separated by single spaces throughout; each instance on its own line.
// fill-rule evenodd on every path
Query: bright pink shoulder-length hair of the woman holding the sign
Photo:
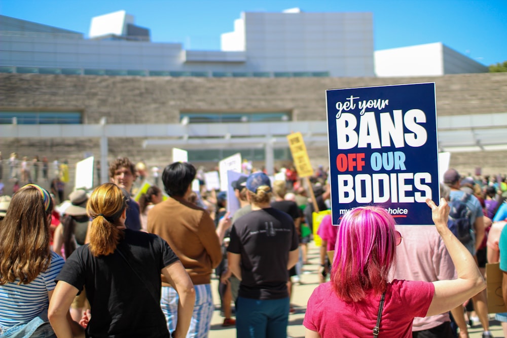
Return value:
M 394 218 L 382 207 L 359 207 L 343 216 L 331 270 L 331 284 L 343 301 L 385 290 L 395 259 L 394 231 Z

